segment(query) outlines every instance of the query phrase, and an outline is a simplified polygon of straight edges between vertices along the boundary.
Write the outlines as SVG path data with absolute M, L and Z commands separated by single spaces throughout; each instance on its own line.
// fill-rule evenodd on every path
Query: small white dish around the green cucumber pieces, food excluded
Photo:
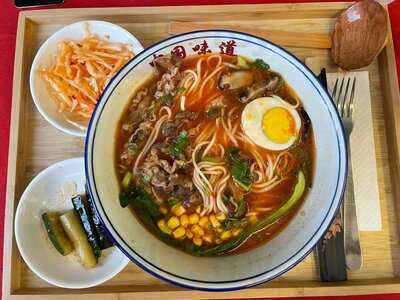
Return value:
M 99 264 L 86 269 L 75 254 L 62 256 L 53 247 L 42 224 L 48 210 L 72 208 L 71 201 L 61 201 L 60 188 L 76 183 L 78 194 L 85 190 L 82 157 L 58 162 L 40 172 L 25 189 L 15 214 L 15 238 L 22 258 L 40 278 L 63 288 L 88 288 L 105 282 L 119 273 L 129 259 L 116 247 L 102 251 Z

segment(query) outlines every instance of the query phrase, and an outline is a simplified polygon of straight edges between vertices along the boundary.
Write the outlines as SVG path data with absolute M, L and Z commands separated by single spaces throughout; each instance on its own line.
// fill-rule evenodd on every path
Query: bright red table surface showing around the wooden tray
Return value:
M 251 3 L 282 3 L 282 2 L 328 2 L 302 0 L 64 0 L 65 3 L 54 8 L 75 7 L 118 7 L 118 6 L 161 6 L 161 5 L 215 5 L 215 4 L 251 4 Z M 12 78 L 15 50 L 15 37 L 19 9 L 15 8 L 13 0 L 0 1 L 0 236 L 4 236 L 4 208 L 7 179 L 8 139 L 10 131 L 10 112 L 12 100 Z M 394 45 L 396 49 L 397 72 L 400 74 L 400 1 L 389 5 L 392 23 Z M 5 249 L 7 251 L 7 249 Z M 3 247 L 0 248 L 0 271 L 2 271 Z M 2 273 L 2 272 L 1 272 Z M 0 278 L 0 281 L 2 278 Z M 267 295 L 266 295 L 267 296 Z M 347 296 L 347 297 L 307 297 L 304 299 L 400 299 L 400 294 Z

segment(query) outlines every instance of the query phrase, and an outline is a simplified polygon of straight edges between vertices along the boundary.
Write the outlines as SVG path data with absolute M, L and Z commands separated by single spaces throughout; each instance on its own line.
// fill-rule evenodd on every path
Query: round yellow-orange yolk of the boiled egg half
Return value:
M 266 111 L 262 122 L 264 134 L 274 143 L 287 143 L 296 135 L 293 116 L 283 107 L 274 107 Z

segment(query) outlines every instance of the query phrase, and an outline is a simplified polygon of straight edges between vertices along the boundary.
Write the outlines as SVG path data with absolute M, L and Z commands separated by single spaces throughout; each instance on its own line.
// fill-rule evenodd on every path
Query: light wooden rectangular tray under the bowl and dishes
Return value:
M 258 29 L 329 34 L 335 16 L 350 3 L 148 7 L 25 11 L 18 23 L 6 198 L 3 295 L 6 299 L 203 299 L 304 295 L 348 295 L 400 292 L 400 244 L 396 204 L 400 205 L 400 97 L 391 33 L 370 72 L 373 127 L 380 186 L 383 230 L 361 232 L 364 265 L 344 283 L 321 283 L 310 254 L 282 277 L 258 287 L 228 293 L 183 290 L 129 264 L 107 283 L 86 289 L 50 286 L 35 276 L 19 256 L 13 216 L 31 178 L 50 164 L 83 155 L 83 140 L 67 136 L 37 112 L 29 93 L 28 74 L 39 45 L 55 30 L 80 20 L 106 20 L 122 25 L 145 46 L 168 36 L 168 22 L 212 21 Z M 304 59 L 320 57 L 334 70 L 326 49 L 288 48 Z M 390 162 L 390 163 L 389 163 Z M 394 184 L 396 183 L 396 184 Z M 367 195 L 366 195 L 367 196 Z M 399 202 L 399 203 L 396 203 Z

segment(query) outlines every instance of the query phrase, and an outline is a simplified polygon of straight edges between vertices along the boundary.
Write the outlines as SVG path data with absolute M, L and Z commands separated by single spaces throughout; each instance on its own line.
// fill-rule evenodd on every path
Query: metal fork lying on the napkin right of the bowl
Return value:
M 332 92 L 332 98 L 334 99 L 338 112 L 342 118 L 347 149 L 348 149 L 347 184 L 344 193 L 344 199 L 343 199 L 344 201 L 342 203 L 341 209 L 343 216 L 344 252 L 346 257 L 346 266 L 348 269 L 355 271 L 359 270 L 362 265 L 360 238 L 359 238 L 358 224 L 357 224 L 357 212 L 356 212 L 356 204 L 354 201 L 353 172 L 351 167 L 352 165 L 351 165 L 351 153 L 350 153 L 350 135 L 353 130 L 352 116 L 354 110 L 356 77 L 353 77 L 351 90 L 349 90 L 350 82 L 351 78 L 349 77 L 346 82 L 346 87 L 344 88 L 345 77 L 342 78 L 340 84 L 339 84 L 339 78 L 336 79 Z

